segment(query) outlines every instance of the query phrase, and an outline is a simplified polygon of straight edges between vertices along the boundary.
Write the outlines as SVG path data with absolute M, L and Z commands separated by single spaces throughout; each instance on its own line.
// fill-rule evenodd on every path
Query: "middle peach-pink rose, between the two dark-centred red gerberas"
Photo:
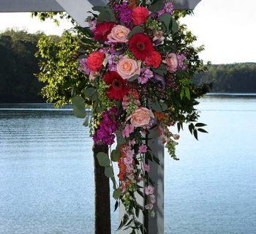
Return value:
M 134 75 L 140 75 L 140 66 L 141 61 L 124 58 L 118 61 L 116 70 L 121 78 L 129 80 Z

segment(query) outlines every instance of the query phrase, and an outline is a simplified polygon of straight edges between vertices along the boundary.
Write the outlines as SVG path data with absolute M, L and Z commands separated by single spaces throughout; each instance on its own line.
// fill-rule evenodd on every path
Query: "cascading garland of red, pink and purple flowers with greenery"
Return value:
M 91 136 L 97 145 L 116 148 L 97 154 L 99 165 L 113 181 L 113 197 L 124 204 L 120 227 L 141 231 L 139 211 L 154 216 L 154 181 L 148 160 L 159 163 L 148 146 L 148 135 L 159 137 L 173 159 L 179 135 L 169 127 L 189 124 L 190 132 L 206 132 L 205 124 L 193 124 L 198 113 L 195 100 L 207 88 L 197 88 L 192 78 L 198 58 L 184 44 L 184 34 L 173 17 L 172 1 L 110 0 L 107 7 L 93 7 L 83 36 L 79 69 L 90 80 L 81 96 L 72 98 L 75 116 L 86 117 L 85 99 L 91 102 Z M 86 117 L 85 125 L 89 122 Z M 118 179 L 113 173 L 118 162 Z M 142 189 L 141 184 L 145 184 Z M 140 205 L 135 194 L 145 197 Z

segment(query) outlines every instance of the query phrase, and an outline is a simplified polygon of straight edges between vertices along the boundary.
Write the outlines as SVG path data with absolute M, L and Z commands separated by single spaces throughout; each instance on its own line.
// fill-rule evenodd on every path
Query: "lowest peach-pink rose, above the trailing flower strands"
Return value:
M 154 118 L 152 111 L 145 107 L 140 107 L 127 118 L 127 121 L 130 120 L 134 127 L 143 127 L 149 124 L 150 118 Z

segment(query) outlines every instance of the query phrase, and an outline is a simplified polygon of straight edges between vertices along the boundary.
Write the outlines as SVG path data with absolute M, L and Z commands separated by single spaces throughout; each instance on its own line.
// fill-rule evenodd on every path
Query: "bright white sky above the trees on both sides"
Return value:
M 183 20 L 197 36 L 196 45 L 205 45 L 200 58 L 212 64 L 256 62 L 255 10 L 255 0 L 200 1 L 195 14 Z M 61 35 L 71 27 L 66 21 L 59 27 L 50 20 L 39 22 L 30 13 L 0 13 L 0 22 L 0 31 L 14 28 Z

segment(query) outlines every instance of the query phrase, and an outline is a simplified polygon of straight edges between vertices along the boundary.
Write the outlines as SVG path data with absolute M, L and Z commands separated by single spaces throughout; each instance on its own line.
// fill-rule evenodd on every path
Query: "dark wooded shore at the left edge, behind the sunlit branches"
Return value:
M 44 102 L 38 95 L 43 84 L 33 75 L 39 72 L 34 53 L 41 36 L 13 29 L 0 34 L 0 102 Z

